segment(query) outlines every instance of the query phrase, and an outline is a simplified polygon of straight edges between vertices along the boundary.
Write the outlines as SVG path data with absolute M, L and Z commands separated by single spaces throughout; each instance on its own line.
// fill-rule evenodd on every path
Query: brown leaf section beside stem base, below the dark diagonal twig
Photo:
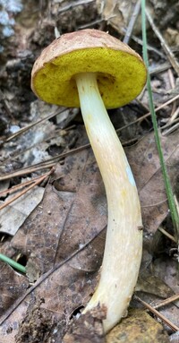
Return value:
M 97 237 L 98 239 L 100 240 Z M 94 245 L 96 246 L 98 243 L 96 242 Z M 74 254 L 71 260 L 64 261 L 55 270 L 47 273 L 47 276 L 45 275 L 39 279 L 34 287 L 26 293 L 27 296 L 22 297 L 21 303 L 17 301 L 17 303 L 13 304 L 9 318 L 1 325 L 0 339 L 4 343 L 14 342 L 14 336 L 18 331 L 18 322 L 20 323 L 24 318 L 27 306 L 30 305 L 30 299 L 34 297 L 36 299 L 45 299 L 42 308 L 46 308 L 48 313 L 52 314 L 56 325 L 59 322 L 62 323 L 62 327 L 58 332 L 58 334 L 62 334 L 67 328 L 72 313 L 82 304 L 86 304 L 97 283 L 97 278 L 94 279 L 94 270 L 90 272 L 90 265 L 93 268 L 96 262 L 95 255 L 96 250 L 91 243 L 90 252 L 88 249 L 84 249 L 78 252 L 77 255 Z M 88 271 L 85 270 L 87 260 L 89 261 Z M 77 267 L 77 265 L 79 266 Z M 7 312 L 5 315 L 7 315 Z M 2 317 L 2 320 L 4 320 L 4 317 Z M 13 325 L 14 321 L 16 322 L 15 327 Z M 58 340 L 55 342 L 57 343 Z

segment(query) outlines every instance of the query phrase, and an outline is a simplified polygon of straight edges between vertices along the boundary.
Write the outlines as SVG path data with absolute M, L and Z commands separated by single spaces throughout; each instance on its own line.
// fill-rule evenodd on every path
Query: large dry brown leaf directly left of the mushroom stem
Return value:
M 37 298 L 45 298 L 44 306 L 55 313 L 58 322 L 65 319 L 68 322 L 72 312 L 88 301 L 97 283 L 93 274 L 101 264 L 105 243 L 105 237 L 98 234 L 107 222 L 104 187 L 91 151 L 84 150 L 66 159 L 63 169 L 64 181 L 62 171 L 56 172 L 59 181 L 54 182 L 55 186 L 47 186 L 42 204 L 12 241 L 22 253 L 31 253 L 30 261 L 38 263 L 41 272 L 53 268 L 55 262 L 62 262 L 62 266 L 52 271 L 47 279 L 42 279 L 32 293 Z M 62 191 L 56 191 L 56 188 Z M 72 254 L 73 258 L 65 262 L 64 259 Z M 14 310 L 14 313 L 18 311 L 18 316 L 21 313 L 21 319 L 24 303 L 30 303 L 30 296 Z M 4 322 L 3 332 L 4 328 L 11 327 L 13 315 Z M 13 339 L 16 333 L 16 330 L 10 334 L 5 332 L 4 343 L 5 339 Z

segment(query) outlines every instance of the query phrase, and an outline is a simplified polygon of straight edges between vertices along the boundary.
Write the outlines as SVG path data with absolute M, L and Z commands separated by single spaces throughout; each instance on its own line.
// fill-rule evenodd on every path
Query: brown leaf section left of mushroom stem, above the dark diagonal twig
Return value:
M 38 259 L 41 272 L 81 250 L 107 225 L 104 185 L 90 150 L 68 157 L 56 169 L 54 179 L 43 202 L 12 240 L 14 248 L 25 255 L 32 253 L 34 262 Z M 94 270 L 99 266 L 98 258 L 96 261 Z

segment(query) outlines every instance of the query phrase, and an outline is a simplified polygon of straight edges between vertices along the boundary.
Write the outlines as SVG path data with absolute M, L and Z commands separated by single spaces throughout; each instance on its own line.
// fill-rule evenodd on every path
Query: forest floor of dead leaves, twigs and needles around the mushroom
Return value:
M 153 100 L 178 209 L 179 4 L 150 0 L 146 9 Z M 179 342 L 177 235 L 147 88 L 108 111 L 141 200 L 135 294 L 107 337 L 105 308 L 81 316 L 104 253 L 105 187 L 80 109 L 38 99 L 30 75 L 44 47 L 87 28 L 107 31 L 142 56 L 139 1 L 0 0 L 0 253 L 26 268 L 0 261 L 0 343 Z

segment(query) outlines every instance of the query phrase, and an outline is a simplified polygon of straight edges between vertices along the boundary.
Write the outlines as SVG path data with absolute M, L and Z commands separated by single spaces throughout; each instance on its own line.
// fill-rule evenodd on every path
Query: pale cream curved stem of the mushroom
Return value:
M 141 207 L 131 167 L 101 99 L 96 73 L 75 76 L 81 113 L 103 178 L 108 207 L 107 240 L 98 287 L 87 304 L 105 305 L 104 330 L 125 316 L 141 264 Z

